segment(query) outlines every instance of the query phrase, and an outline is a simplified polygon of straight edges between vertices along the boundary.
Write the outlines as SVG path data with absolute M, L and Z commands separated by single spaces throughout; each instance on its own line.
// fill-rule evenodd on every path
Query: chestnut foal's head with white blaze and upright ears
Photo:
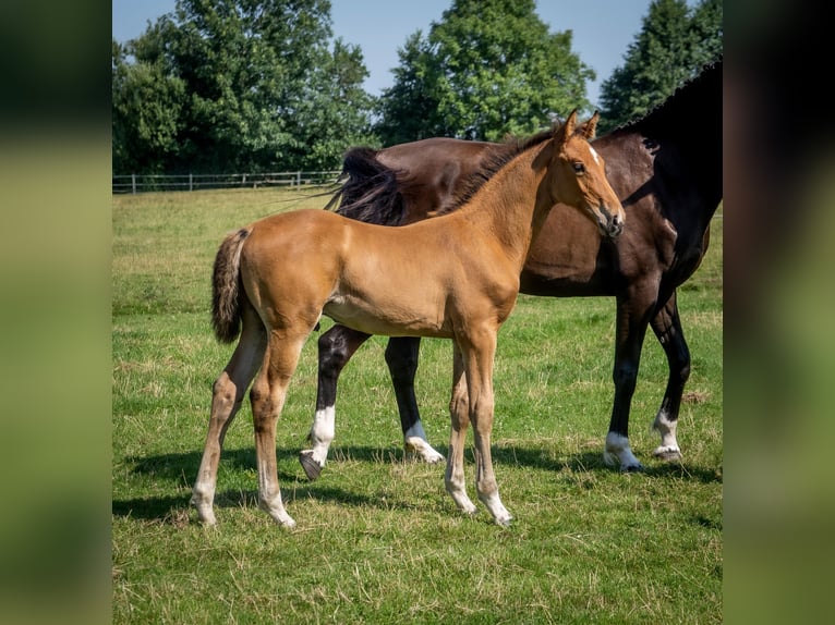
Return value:
M 597 127 L 597 112 L 577 125 L 577 110 L 554 132 L 549 185 L 555 203 L 579 209 L 597 224 L 601 233 L 615 238 L 626 223 L 624 207 L 606 177 L 603 157 L 589 143 Z

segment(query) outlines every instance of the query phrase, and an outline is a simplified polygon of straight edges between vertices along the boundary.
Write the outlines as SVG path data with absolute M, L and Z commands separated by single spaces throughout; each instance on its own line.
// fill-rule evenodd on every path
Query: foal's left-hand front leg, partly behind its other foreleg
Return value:
M 467 480 L 464 478 L 464 445 L 467 444 L 467 428 L 470 426 L 470 404 L 467 391 L 467 376 L 461 351 L 452 343 L 452 397 L 449 400 L 449 457 L 444 483 L 447 492 L 459 510 L 474 514 L 475 504 L 467 497 Z

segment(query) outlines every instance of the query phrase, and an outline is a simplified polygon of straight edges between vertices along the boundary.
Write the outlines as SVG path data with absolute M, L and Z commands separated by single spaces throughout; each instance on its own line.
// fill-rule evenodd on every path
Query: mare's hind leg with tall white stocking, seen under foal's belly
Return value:
M 360 348 L 360 345 L 371 338 L 359 330 L 336 324 L 322 334 L 318 341 L 319 368 L 316 390 L 316 414 L 307 434 L 312 449 L 299 454 L 299 462 L 307 475 L 315 480 L 322 474 L 328 458 L 330 443 L 336 436 L 336 403 L 337 382 L 342 369 Z

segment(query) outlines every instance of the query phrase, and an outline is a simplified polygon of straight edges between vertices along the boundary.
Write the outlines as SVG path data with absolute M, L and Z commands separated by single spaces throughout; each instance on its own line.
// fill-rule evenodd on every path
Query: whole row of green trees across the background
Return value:
M 652 0 L 601 85 L 607 132 L 722 54 L 722 0 Z M 113 173 L 332 170 L 351 146 L 431 136 L 501 140 L 591 113 L 596 78 L 534 0 L 451 0 L 398 50 L 394 84 L 366 93 L 360 47 L 335 38 L 328 0 L 178 0 L 112 41 Z

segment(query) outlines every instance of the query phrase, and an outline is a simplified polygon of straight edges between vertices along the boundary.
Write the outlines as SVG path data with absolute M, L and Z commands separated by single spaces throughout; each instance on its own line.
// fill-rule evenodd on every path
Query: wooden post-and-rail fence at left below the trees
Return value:
M 276 173 L 217 173 L 180 175 L 114 175 L 112 193 L 150 191 L 198 191 L 205 188 L 258 188 L 263 186 L 302 186 L 332 184 L 339 171 L 285 171 Z

